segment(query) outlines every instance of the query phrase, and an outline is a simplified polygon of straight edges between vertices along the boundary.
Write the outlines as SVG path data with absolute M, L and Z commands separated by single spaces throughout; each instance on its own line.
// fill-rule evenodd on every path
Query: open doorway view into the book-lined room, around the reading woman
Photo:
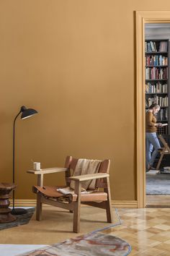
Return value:
M 155 117 L 163 125 L 157 128 L 159 147 L 165 148 L 156 156 L 153 168 L 146 172 L 146 207 L 167 207 L 170 202 L 169 31 L 170 23 L 145 24 L 146 115 L 152 103 L 161 107 Z M 147 124 L 150 136 L 156 127 Z

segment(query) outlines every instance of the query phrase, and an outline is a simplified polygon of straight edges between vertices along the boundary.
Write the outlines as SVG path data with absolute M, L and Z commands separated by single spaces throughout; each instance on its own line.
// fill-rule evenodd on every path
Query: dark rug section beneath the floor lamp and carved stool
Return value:
M 0 223 L 0 230 L 11 229 L 14 226 L 20 226 L 20 225 L 29 223 L 34 212 L 35 212 L 35 207 L 28 208 L 27 213 L 16 216 L 17 217 L 16 221 L 9 222 L 9 223 Z

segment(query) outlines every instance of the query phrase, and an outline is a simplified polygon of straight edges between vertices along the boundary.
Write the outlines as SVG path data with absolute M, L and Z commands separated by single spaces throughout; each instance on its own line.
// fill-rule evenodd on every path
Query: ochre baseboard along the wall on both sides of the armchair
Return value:
M 36 200 L 15 200 L 15 206 L 35 206 L 36 205 Z M 12 200 L 11 204 L 12 206 Z M 138 202 L 135 200 L 112 200 L 112 206 L 116 208 L 138 208 Z

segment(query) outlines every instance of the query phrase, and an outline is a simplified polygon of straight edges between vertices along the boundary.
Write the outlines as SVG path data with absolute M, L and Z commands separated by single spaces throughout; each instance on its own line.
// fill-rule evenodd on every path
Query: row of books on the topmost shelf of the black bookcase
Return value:
M 146 42 L 145 44 L 146 52 L 166 52 L 168 49 L 168 42 L 161 41 L 161 42 Z

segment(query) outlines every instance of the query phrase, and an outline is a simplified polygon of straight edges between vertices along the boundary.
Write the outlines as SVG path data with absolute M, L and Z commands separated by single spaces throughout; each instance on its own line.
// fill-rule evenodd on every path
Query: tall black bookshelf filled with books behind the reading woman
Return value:
M 157 121 L 169 124 L 169 40 L 148 39 L 146 50 L 146 109 L 151 104 L 161 106 Z M 158 134 L 168 135 L 170 125 L 158 128 Z

